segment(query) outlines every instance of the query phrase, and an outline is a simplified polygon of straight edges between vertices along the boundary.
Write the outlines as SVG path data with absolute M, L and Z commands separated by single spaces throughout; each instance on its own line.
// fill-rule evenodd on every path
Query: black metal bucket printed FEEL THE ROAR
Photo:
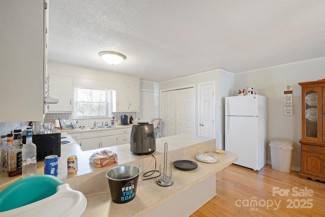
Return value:
M 136 197 L 140 167 L 125 165 L 110 169 L 106 173 L 114 203 L 127 203 Z

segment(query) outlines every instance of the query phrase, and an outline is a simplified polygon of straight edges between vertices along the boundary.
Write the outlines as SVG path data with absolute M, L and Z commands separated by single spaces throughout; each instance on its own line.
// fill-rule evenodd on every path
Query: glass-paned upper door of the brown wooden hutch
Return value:
M 302 88 L 302 139 L 322 142 L 322 89 Z

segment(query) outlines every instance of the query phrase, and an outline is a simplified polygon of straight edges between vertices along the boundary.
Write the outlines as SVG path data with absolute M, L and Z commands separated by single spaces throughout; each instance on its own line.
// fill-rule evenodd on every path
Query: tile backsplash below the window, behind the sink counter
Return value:
M 121 121 L 121 115 L 127 115 L 128 116 L 128 122 L 129 117 L 132 115 L 134 122 L 136 120 L 136 112 L 113 112 L 112 115 L 116 117 L 118 124 L 120 124 Z M 72 120 L 72 113 L 47 113 L 44 117 L 44 122 L 55 122 L 55 119 L 67 119 Z M 88 118 L 88 119 L 75 119 L 75 121 L 78 121 L 78 128 L 79 127 L 92 127 L 94 122 L 102 122 L 103 125 L 105 125 L 105 122 L 107 121 L 109 125 L 111 125 L 112 118 Z M 99 126 L 101 123 L 99 124 Z

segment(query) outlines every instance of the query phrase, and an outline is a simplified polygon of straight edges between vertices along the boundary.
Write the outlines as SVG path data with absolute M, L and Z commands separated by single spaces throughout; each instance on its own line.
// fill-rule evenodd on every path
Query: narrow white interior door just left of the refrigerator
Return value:
M 199 116 L 199 135 L 215 138 L 214 130 L 214 96 L 213 84 L 200 85 L 200 116 Z

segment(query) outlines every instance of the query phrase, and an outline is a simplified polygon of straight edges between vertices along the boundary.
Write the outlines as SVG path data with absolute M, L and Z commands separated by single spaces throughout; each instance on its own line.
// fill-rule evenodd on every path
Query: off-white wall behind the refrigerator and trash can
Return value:
M 233 95 L 240 88 L 254 86 L 267 100 L 267 161 L 271 154 L 269 142 L 273 138 L 294 142 L 293 169 L 300 170 L 301 162 L 301 87 L 298 82 L 325 77 L 325 57 L 300 61 L 276 67 L 235 74 Z M 283 115 L 283 90 L 290 86 L 294 92 L 293 116 Z

